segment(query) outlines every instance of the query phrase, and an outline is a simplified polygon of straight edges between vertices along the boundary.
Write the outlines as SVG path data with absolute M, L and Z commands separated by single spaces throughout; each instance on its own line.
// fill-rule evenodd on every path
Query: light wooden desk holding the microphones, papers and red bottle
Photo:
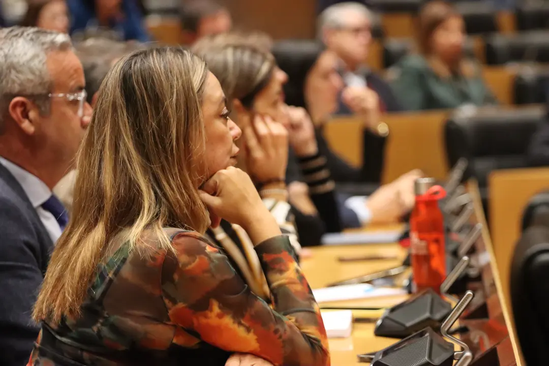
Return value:
M 471 182 L 468 186 L 475 203 L 475 213 L 471 223 L 481 222 L 485 225 L 484 212 L 480 204 L 478 186 Z M 394 227 L 393 227 L 394 228 Z M 377 228 L 379 229 L 379 227 Z M 389 228 L 387 228 L 389 229 Z M 323 246 L 311 249 L 312 258 L 302 260 L 303 269 L 311 287 L 320 288 L 334 281 L 349 279 L 359 275 L 377 272 L 382 269 L 398 266 L 406 255 L 406 250 L 396 243 L 392 244 L 367 244 L 347 246 Z M 494 251 L 490 241 L 488 230 L 483 231 L 482 239 L 477 242 L 477 253 L 486 253 L 489 260 L 483 268 L 483 291 L 477 294 L 485 294 L 489 297 L 489 319 L 460 320 L 467 324 L 472 331 L 463 335 L 462 339 L 472 345 L 475 350 L 475 361 L 478 365 L 488 366 L 521 366 L 518 347 L 515 336 L 509 326 L 509 312 L 502 297 L 502 284 L 497 273 L 497 264 L 494 260 Z M 339 262 L 338 256 L 367 255 L 367 254 L 394 254 L 399 257 L 393 261 L 365 261 L 365 262 Z M 392 296 L 375 300 L 355 300 L 339 302 L 337 305 L 363 306 L 363 307 L 389 307 L 404 301 L 407 296 Z M 475 299 L 479 300 L 480 297 Z M 321 306 L 336 305 L 335 303 L 322 303 Z M 355 323 L 351 337 L 347 339 L 330 339 L 330 355 L 334 366 L 361 366 L 357 354 L 369 353 L 381 350 L 394 344 L 397 340 L 385 337 L 376 337 L 373 334 L 374 323 Z M 508 329 L 511 329 L 509 331 Z M 473 364 L 474 365 L 474 364 Z

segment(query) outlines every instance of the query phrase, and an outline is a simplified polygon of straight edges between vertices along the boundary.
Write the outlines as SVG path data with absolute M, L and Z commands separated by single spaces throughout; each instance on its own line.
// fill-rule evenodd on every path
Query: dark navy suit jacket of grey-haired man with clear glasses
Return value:
M 21 185 L 0 164 L 0 365 L 29 361 L 40 330 L 31 320 L 53 250 Z

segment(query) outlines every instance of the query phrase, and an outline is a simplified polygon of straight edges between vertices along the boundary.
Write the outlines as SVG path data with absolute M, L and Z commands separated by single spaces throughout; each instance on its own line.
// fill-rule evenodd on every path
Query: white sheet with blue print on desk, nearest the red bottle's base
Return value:
M 374 287 L 367 283 L 312 290 L 316 302 L 372 299 L 372 297 L 406 295 L 405 289 Z

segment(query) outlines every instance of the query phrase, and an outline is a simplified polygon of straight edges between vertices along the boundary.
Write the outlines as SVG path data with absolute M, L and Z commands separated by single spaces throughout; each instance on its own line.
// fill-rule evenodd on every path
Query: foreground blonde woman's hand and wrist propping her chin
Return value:
M 242 226 L 254 245 L 281 234 L 250 176 L 239 168 L 231 166 L 215 173 L 204 183 L 200 198 L 211 218 L 224 218 Z

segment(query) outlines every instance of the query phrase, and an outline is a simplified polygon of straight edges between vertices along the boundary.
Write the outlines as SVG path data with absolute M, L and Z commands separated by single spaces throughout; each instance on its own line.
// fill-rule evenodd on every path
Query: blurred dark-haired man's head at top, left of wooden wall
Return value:
M 181 9 L 181 27 L 183 43 L 193 44 L 204 36 L 230 31 L 231 14 L 215 0 L 188 0 Z

